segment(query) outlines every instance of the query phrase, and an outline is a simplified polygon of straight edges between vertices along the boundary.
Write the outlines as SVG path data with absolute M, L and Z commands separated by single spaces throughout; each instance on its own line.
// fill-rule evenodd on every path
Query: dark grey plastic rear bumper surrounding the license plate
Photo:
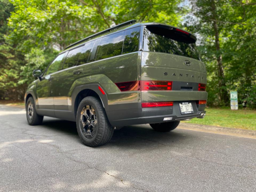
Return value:
M 172 107 L 148 107 L 141 108 L 141 103 L 137 103 L 136 108 L 127 109 L 125 104 L 119 104 L 121 110 L 108 111 L 107 116 L 112 126 L 127 126 L 147 123 L 163 123 L 169 121 L 182 121 L 192 118 L 205 117 L 205 105 L 197 105 L 195 101 L 192 103 L 194 113 L 181 114 L 178 103 L 175 101 Z

